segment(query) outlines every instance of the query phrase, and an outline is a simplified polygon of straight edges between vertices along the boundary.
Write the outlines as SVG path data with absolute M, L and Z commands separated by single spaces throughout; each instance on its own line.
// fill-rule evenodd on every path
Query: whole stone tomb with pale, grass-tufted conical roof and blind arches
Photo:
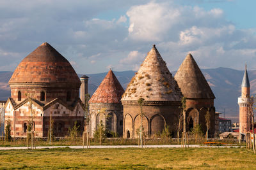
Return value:
M 138 138 L 140 106 L 143 98 L 143 129 L 147 137 L 162 132 L 168 125 L 175 132 L 182 93 L 153 45 L 138 73 L 132 78 L 122 96 L 124 106 L 124 138 Z

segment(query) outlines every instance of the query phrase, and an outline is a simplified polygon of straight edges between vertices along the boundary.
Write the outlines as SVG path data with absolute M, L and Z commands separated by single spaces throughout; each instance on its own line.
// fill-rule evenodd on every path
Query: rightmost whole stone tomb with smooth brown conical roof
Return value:
M 209 110 L 211 125 L 209 135 L 214 136 L 215 96 L 205 80 L 204 74 L 189 53 L 174 76 L 184 97 L 186 97 L 186 131 L 200 124 L 206 131 L 205 114 Z

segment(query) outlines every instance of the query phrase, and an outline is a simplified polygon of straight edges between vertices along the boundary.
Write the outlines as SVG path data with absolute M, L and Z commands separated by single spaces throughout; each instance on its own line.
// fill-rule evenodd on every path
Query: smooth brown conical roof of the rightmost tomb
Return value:
M 180 65 L 174 78 L 177 81 L 184 97 L 195 99 L 215 99 L 211 87 L 205 80 L 204 74 L 190 53 Z

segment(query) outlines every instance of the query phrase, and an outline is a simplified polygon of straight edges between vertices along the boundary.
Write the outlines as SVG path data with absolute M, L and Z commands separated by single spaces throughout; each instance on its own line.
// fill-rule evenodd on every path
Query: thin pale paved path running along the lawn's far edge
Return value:
M 83 146 L 36 146 L 36 149 L 44 148 L 73 148 L 73 149 L 83 149 Z M 239 148 L 243 146 L 237 145 L 223 145 L 223 146 L 207 146 L 207 145 L 189 145 L 189 148 Z M 86 148 L 86 146 L 84 146 Z M 138 145 L 93 145 L 91 148 L 138 148 Z M 181 148 L 180 145 L 146 145 L 146 148 Z M 26 150 L 28 147 L 0 147 L 0 150 Z

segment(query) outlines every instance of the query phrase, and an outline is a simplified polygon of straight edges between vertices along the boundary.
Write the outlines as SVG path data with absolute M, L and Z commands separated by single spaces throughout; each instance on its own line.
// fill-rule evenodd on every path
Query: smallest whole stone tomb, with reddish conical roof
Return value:
M 90 136 L 93 137 L 100 121 L 109 132 L 122 136 L 123 106 L 120 101 L 122 94 L 124 94 L 124 89 L 110 69 L 89 101 Z

